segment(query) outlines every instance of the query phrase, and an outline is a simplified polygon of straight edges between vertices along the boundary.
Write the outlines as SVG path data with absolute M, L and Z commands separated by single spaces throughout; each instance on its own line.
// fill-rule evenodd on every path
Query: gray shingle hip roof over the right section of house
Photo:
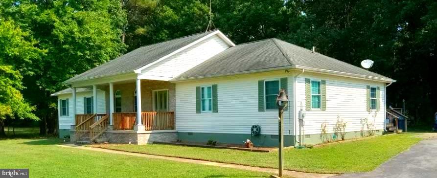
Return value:
M 313 53 L 298 45 L 273 38 L 230 47 L 175 77 L 173 81 L 297 66 L 392 80 L 320 53 Z

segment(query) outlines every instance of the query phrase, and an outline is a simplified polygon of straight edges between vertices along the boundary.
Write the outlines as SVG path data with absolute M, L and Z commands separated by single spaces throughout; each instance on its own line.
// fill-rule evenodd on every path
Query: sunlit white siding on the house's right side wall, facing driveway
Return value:
M 326 81 L 326 111 L 311 110 L 305 111 L 305 78 L 325 80 Z M 365 110 L 367 108 L 367 86 L 380 87 L 380 111 L 370 114 Z M 321 124 L 326 123 L 328 133 L 333 133 L 332 128 L 340 116 L 347 123 L 346 132 L 360 132 L 362 129 L 367 130 L 363 125 L 365 118 L 368 122 L 374 122 L 376 130 L 384 129 L 384 83 L 371 82 L 366 80 L 351 79 L 345 77 L 321 75 L 306 72 L 299 75 L 297 80 L 297 108 L 305 111 L 304 134 L 320 134 Z

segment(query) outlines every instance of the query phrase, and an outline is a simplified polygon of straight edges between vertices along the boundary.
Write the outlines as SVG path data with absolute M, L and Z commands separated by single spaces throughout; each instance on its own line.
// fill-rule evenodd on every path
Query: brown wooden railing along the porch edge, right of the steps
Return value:
M 174 112 L 141 112 L 142 123 L 146 131 L 173 130 Z M 114 130 L 133 130 L 137 122 L 137 112 L 113 113 Z

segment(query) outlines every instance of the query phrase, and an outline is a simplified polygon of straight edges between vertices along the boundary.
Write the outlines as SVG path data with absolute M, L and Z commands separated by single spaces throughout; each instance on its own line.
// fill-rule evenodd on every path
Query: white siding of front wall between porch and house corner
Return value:
M 258 111 L 258 80 L 284 77 L 288 77 L 290 96 L 290 108 L 284 111 L 284 134 L 293 134 L 290 119 L 293 117 L 293 77 L 283 71 L 176 83 L 176 129 L 179 132 L 250 134 L 252 125 L 257 124 L 261 126 L 261 134 L 277 134 L 277 110 Z M 196 87 L 215 84 L 219 86 L 219 112 L 196 114 Z

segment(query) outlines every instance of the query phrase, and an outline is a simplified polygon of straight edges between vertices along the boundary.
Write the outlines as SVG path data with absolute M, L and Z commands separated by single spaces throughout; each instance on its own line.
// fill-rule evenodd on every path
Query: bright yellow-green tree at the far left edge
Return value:
M 34 45 L 36 42 L 29 33 L 23 32 L 12 21 L 0 21 L 0 136 L 5 135 L 4 120 L 7 118 L 39 119 L 32 113 L 35 107 L 23 98 L 23 77 L 17 70 L 31 72 L 23 68 L 41 59 L 44 51 Z

